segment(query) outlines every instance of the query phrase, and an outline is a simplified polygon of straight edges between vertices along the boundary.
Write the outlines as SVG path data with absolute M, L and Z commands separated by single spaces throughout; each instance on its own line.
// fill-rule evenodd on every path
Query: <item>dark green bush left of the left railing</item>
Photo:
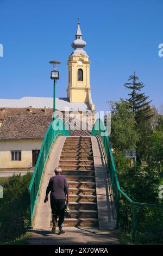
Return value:
M 29 224 L 28 186 L 32 174 L 14 175 L 3 184 L 0 208 L 0 241 L 6 242 L 26 233 Z

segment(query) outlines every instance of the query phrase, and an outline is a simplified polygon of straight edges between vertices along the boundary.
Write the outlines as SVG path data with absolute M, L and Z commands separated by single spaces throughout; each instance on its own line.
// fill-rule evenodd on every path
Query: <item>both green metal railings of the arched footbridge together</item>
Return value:
M 45 138 L 43 139 L 39 157 L 36 162 L 32 180 L 29 185 L 29 197 L 30 197 L 30 206 L 29 206 L 29 216 L 30 216 L 30 226 L 33 227 L 33 218 L 34 212 L 37 204 L 37 198 L 39 196 L 39 189 L 41 185 L 41 179 L 43 172 L 46 166 L 46 162 L 51 152 L 53 143 L 58 136 L 70 136 L 65 124 L 60 119 L 55 119 L 48 127 Z M 111 197 L 114 202 L 114 211 L 116 215 L 116 228 L 120 227 L 121 220 L 121 202 L 122 199 L 126 200 L 132 209 L 132 214 L 130 216 L 131 221 L 131 237 L 132 242 L 135 242 L 136 239 L 136 230 L 139 225 L 136 220 L 137 210 L 140 210 L 141 207 L 146 207 L 147 209 L 160 209 L 163 210 L 163 205 L 152 205 L 146 203 L 134 202 L 131 198 L 127 196 L 126 193 L 120 187 L 118 176 L 116 172 L 114 158 L 112 156 L 111 145 L 109 142 L 109 137 L 106 132 L 106 127 L 102 120 L 97 119 L 95 125 L 93 126 L 91 136 L 98 136 L 101 141 L 101 147 L 105 153 L 105 159 L 107 162 L 108 174 L 110 177 L 111 183 Z

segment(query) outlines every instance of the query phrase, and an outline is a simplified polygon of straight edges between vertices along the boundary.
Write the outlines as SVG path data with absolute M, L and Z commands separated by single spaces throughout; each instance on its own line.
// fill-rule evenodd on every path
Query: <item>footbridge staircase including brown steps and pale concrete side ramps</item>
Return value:
M 71 194 L 72 218 L 65 218 L 65 230 L 79 231 L 80 227 L 87 227 L 85 230 L 113 230 L 115 219 L 108 170 L 101 144 L 95 136 L 57 137 L 43 173 L 33 229 L 50 231 L 52 228 L 50 200 L 45 204 L 44 198 L 49 179 L 58 166 L 63 169 Z

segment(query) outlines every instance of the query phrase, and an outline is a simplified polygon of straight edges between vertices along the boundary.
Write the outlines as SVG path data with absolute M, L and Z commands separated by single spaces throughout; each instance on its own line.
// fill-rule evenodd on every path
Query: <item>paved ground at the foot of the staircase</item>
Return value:
M 64 228 L 66 231 L 66 227 Z M 74 228 L 65 234 L 53 235 L 47 230 L 32 230 L 32 237 L 28 240 L 30 245 L 120 245 L 116 231 L 83 230 Z

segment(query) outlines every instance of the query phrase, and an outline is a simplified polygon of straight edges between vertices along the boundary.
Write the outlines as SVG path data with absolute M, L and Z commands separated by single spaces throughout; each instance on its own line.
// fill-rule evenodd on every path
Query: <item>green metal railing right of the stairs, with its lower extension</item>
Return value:
M 124 193 L 121 190 L 119 181 L 118 181 L 118 176 L 116 172 L 116 167 L 115 167 L 115 162 L 114 158 L 112 156 L 112 151 L 111 151 L 111 145 L 108 137 L 108 133 L 106 131 L 106 127 L 104 125 L 104 122 L 101 119 L 97 119 L 95 122 L 95 125 L 93 126 L 92 129 L 92 136 L 98 136 L 101 138 L 101 141 L 103 143 L 103 147 L 105 150 L 105 156 L 108 162 L 108 171 L 110 174 L 110 179 L 111 179 L 111 190 L 112 190 L 112 199 L 114 201 L 114 207 L 115 207 L 115 212 L 116 212 L 116 226 L 117 228 L 119 227 L 119 222 L 120 222 L 120 198 L 123 197 L 126 199 L 129 204 L 131 205 L 132 208 L 132 217 L 131 217 L 131 237 L 132 237 L 132 242 L 135 242 L 136 239 L 136 229 L 137 229 L 137 210 L 140 207 L 146 207 L 146 208 L 159 208 L 160 210 L 163 210 L 163 205 L 155 205 L 155 204 L 147 204 L 147 203 L 139 203 L 139 202 L 134 202 L 131 200 L 126 193 Z M 162 211 L 161 211 L 162 212 Z

